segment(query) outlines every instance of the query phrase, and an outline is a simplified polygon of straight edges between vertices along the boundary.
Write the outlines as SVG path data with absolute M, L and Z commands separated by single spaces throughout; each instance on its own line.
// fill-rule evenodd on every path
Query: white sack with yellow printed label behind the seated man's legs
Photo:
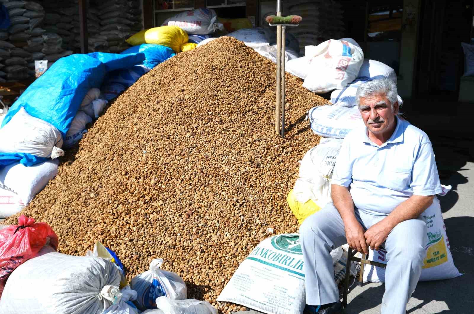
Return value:
M 422 214 L 426 218 L 428 226 L 426 258 L 419 281 L 451 279 L 461 276 L 454 265 L 453 255 L 449 249 L 449 241 L 446 234 L 441 207 L 438 198 L 435 197 L 433 204 Z M 386 264 L 386 252 L 383 250 L 373 251 L 369 248 L 369 259 Z M 385 270 L 380 267 L 365 265 L 364 281 L 385 282 Z

